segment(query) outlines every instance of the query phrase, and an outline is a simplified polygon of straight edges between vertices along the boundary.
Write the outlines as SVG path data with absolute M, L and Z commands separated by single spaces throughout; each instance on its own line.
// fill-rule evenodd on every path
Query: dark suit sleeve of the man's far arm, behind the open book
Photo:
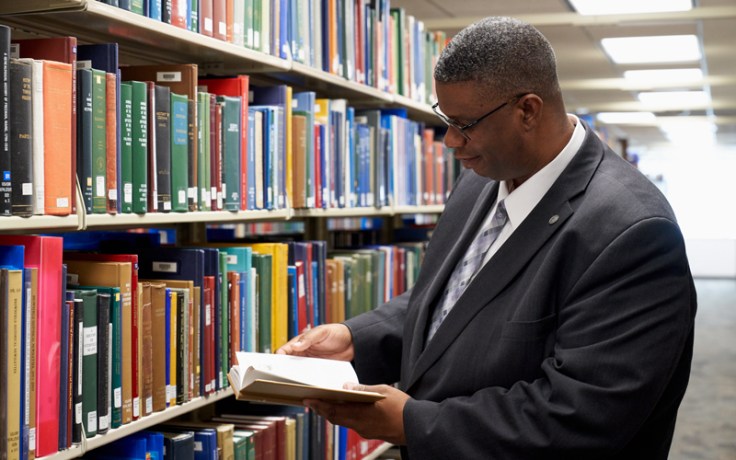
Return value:
M 399 381 L 404 318 L 410 296 L 408 290 L 373 311 L 345 321 L 353 335 L 353 366 L 362 383 Z

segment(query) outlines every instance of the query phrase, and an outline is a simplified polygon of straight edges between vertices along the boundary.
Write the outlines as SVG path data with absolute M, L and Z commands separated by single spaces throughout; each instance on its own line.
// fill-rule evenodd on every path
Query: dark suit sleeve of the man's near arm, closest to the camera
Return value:
M 593 260 L 557 310 L 541 377 L 409 400 L 411 458 L 607 458 L 662 410 L 671 380 L 689 372 L 695 300 L 682 236 L 672 221 L 648 218 Z

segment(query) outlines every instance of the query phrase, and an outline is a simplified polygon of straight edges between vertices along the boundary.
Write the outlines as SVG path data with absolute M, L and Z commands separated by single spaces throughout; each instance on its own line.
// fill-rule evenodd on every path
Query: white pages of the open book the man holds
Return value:
M 231 377 L 240 382 L 241 388 L 255 379 L 338 390 L 346 382 L 358 383 L 358 376 L 347 361 L 251 352 L 238 352 L 237 358 L 238 369 L 233 366 Z

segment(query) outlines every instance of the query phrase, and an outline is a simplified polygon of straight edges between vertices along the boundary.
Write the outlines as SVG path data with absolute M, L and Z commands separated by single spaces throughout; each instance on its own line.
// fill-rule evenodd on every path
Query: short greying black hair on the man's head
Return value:
M 478 82 L 483 90 L 508 97 L 560 93 L 552 45 L 531 24 L 506 17 L 482 19 L 455 35 L 440 54 L 434 78 Z

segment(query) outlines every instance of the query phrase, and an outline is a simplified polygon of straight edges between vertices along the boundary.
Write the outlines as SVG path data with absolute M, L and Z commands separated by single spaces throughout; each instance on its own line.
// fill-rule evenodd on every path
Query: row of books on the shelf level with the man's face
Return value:
M 77 182 L 83 212 L 142 214 L 441 204 L 454 180 L 405 110 L 200 79 L 196 64 L 119 67 L 114 43 L 13 46 L 0 215 L 73 213 Z

